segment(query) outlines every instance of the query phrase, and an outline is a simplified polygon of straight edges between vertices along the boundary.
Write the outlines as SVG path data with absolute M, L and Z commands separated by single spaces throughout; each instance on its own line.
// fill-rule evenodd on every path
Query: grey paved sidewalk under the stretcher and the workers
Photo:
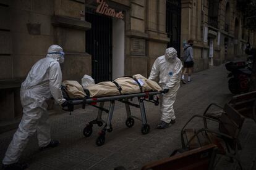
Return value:
M 61 145 L 40 152 L 36 136 L 33 136 L 21 161 L 30 164 L 28 169 L 114 169 L 117 166 L 140 169 L 148 161 L 166 158 L 174 149 L 181 147 L 181 128 L 192 115 L 202 114 L 210 103 L 223 106 L 231 99 L 226 76 L 224 65 L 192 75 L 192 82 L 182 84 L 177 94 L 174 104 L 176 124 L 167 129 L 156 129 L 160 121 L 160 108 L 145 102 L 147 120 L 151 126 L 150 133 L 146 135 L 140 133 L 141 122 L 137 119 L 133 127 L 126 127 L 124 104 L 116 102 L 113 132 L 106 134 L 105 145 L 101 147 L 95 141 L 102 127 L 93 126 L 93 134 L 87 138 L 82 133 L 88 121 L 96 118 L 96 108 L 88 106 L 85 110 L 75 110 L 72 115 L 53 115 L 50 117 L 52 138 L 61 140 Z M 140 117 L 139 108 L 131 108 L 131 112 Z M 202 126 L 199 122 L 194 121 L 191 126 Z M 14 132 L 0 134 L 0 160 Z M 240 137 L 243 150 L 239 156 L 242 166 L 244 169 L 256 169 L 256 123 L 246 120 Z M 216 169 L 237 169 L 237 163 L 229 163 L 222 156 L 219 157 Z

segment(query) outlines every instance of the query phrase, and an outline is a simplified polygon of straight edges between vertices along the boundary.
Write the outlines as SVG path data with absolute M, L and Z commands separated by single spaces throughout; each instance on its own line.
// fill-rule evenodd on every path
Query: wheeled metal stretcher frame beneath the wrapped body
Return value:
M 106 132 L 113 131 L 111 121 L 113 118 L 114 104 L 116 101 L 122 102 L 126 105 L 126 114 L 127 114 L 126 126 L 132 127 L 134 125 L 134 118 L 139 119 L 140 121 L 142 121 L 142 127 L 140 131 L 142 132 L 142 134 L 148 134 L 148 132 L 150 132 L 150 126 L 149 124 L 147 124 L 147 116 L 145 113 L 145 107 L 143 102 L 147 101 L 147 102 L 155 103 L 155 105 L 158 105 L 159 104 L 159 98 L 157 96 L 158 94 L 161 94 L 161 91 L 113 95 L 109 97 L 99 97 L 99 98 L 85 97 L 83 99 L 70 99 L 68 95 L 64 95 L 64 97 L 66 96 L 65 98 L 69 102 L 69 104 L 67 105 L 67 109 L 64 108 L 64 110 L 71 112 L 74 110 L 74 105 L 81 105 L 83 109 L 85 108 L 85 105 L 92 105 L 93 107 L 98 108 L 97 118 L 93 119 L 85 126 L 85 128 L 83 129 L 83 135 L 85 137 L 91 136 L 93 132 L 93 124 L 97 124 L 98 126 L 103 126 L 103 124 L 105 124 L 103 129 L 101 129 L 101 131 L 99 132 L 98 138 L 96 139 L 96 145 L 101 146 L 105 143 Z M 139 104 L 131 102 L 134 98 L 137 98 Z M 110 102 L 109 109 L 104 108 L 105 102 Z M 100 105 L 97 105 L 97 103 L 100 103 Z M 132 114 L 130 113 L 130 106 L 140 108 L 141 119 L 135 116 L 132 116 Z M 103 111 L 108 113 L 108 118 L 106 121 L 101 119 Z

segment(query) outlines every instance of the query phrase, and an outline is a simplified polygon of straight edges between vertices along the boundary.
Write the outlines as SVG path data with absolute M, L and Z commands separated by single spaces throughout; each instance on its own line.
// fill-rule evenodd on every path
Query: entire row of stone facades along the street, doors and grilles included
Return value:
M 195 71 L 244 54 L 256 39 L 233 0 L 0 0 L 0 14 L 0 132 L 19 123 L 20 84 L 51 44 L 66 53 L 63 80 L 87 74 L 97 83 L 148 77 L 166 47 L 181 54 L 188 39 Z

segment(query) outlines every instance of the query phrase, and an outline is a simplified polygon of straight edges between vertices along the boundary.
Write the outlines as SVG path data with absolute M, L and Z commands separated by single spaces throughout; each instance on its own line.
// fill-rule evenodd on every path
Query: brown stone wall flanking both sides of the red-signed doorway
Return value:
M 124 75 L 148 77 L 156 57 L 163 55 L 169 42 L 165 30 L 166 1 L 112 0 L 109 6 L 124 9 Z M 80 11 L 95 1 L 84 0 L 0 0 L 0 92 L 1 121 L 22 115 L 20 83 L 32 65 L 45 57 L 51 44 L 63 47 L 63 79 L 80 81 L 91 75 L 92 61 L 85 51 L 85 31 L 90 23 L 81 20 Z M 137 44 L 140 46 L 137 46 Z M 10 86 L 10 84 L 12 86 Z M 11 103 L 7 105 L 6 103 Z

